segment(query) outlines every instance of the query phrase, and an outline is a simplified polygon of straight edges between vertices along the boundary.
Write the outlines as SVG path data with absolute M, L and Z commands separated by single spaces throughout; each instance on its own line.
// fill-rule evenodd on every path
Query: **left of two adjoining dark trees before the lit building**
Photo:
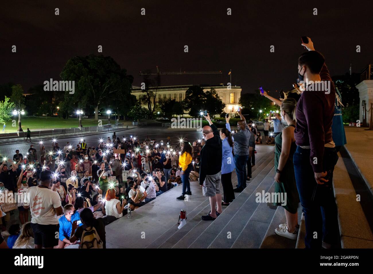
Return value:
M 192 117 L 200 117 L 201 110 L 204 110 L 206 95 L 201 86 L 191 86 L 185 91 L 184 109 L 189 110 Z

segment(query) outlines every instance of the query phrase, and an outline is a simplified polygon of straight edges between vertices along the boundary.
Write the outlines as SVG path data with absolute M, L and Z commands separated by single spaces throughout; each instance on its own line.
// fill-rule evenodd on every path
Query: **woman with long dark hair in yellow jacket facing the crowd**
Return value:
M 192 147 L 189 142 L 181 144 L 181 152 L 179 153 L 179 167 L 181 167 L 181 182 L 183 183 L 183 192 L 178 200 L 184 201 L 185 194 L 192 195 L 189 183 L 189 173 L 193 169 L 192 165 Z

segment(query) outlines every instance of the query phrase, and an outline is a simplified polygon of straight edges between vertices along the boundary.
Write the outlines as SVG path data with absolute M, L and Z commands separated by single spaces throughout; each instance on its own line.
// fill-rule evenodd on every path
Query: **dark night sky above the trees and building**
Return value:
M 373 1 L 12 0 L 0 5 L 0 84 L 22 84 L 25 91 L 50 78 L 60 80 L 70 57 L 101 54 L 98 45 L 134 76 L 133 85 L 140 86 L 141 70 L 156 72 L 157 65 L 163 72 L 223 72 L 164 75 L 161 85 L 226 84 L 232 69 L 232 84 L 242 92 L 258 86 L 291 89 L 304 51 L 301 36 L 311 37 L 332 75 L 347 73 L 350 63 L 352 72 L 360 72 L 373 59 Z

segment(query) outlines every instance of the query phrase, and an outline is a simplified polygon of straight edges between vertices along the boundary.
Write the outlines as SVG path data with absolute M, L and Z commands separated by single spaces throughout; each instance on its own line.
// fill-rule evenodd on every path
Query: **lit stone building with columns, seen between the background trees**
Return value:
M 185 99 L 185 92 L 193 85 L 184 86 L 159 86 L 157 89 L 156 102 L 165 99 L 175 99 L 177 102 L 181 102 Z M 241 97 L 240 86 L 225 86 L 225 85 L 212 85 L 203 86 L 203 91 L 206 92 L 211 88 L 215 89 L 219 98 L 225 103 L 224 112 L 233 114 L 239 106 L 239 98 Z M 151 90 L 156 91 L 156 87 L 151 87 Z M 142 96 L 145 94 L 142 92 L 140 87 L 132 87 L 132 94 L 136 96 L 137 100 L 141 102 L 143 107 L 147 107 L 146 101 L 142 100 Z

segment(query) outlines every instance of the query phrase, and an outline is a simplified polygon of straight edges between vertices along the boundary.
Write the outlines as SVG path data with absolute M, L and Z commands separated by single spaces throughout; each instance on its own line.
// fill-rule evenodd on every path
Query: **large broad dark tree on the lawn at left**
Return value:
M 109 56 L 72 57 L 60 76 L 64 81 L 75 81 L 75 93 L 66 91 L 64 100 L 73 107 L 92 107 L 95 120 L 98 120 L 98 110 L 109 108 L 113 100 L 131 95 L 133 77 Z

